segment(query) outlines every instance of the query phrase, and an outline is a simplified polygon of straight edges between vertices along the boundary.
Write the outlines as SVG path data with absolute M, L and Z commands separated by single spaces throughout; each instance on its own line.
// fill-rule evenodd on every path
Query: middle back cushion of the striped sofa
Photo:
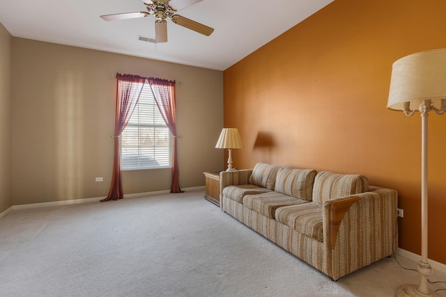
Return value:
M 312 201 L 314 177 L 313 169 L 279 168 L 274 191 Z

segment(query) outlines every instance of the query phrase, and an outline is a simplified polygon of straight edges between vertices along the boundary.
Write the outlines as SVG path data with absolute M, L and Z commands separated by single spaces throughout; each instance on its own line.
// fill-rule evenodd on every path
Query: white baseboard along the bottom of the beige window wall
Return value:
M 204 186 L 194 186 L 191 188 L 185 188 L 183 191 L 202 191 L 204 190 Z M 139 198 L 139 197 L 146 197 L 150 195 L 160 195 L 160 194 L 168 194 L 170 193 L 170 190 L 163 190 L 163 191 L 153 191 L 153 192 L 146 192 L 146 193 L 133 193 L 133 194 L 125 194 L 124 198 Z M 100 200 L 104 199 L 104 197 L 96 197 L 96 198 L 82 198 L 82 199 L 73 199 L 73 200 L 61 200 L 61 201 L 52 201 L 52 202 L 40 202 L 40 203 L 32 203 L 32 204 L 21 204 L 21 205 L 13 205 L 9 209 L 6 209 L 6 211 L 3 211 L 0 214 L 0 218 L 3 218 L 3 216 L 6 216 L 11 211 L 18 210 L 18 209 L 33 209 L 37 207 L 52 207 L 52 206 L 58 206 L 58 205 L 68 205 L 68 204 L 77 204 L 77 203 L 86 203 L 86 202 L 99 202 Z

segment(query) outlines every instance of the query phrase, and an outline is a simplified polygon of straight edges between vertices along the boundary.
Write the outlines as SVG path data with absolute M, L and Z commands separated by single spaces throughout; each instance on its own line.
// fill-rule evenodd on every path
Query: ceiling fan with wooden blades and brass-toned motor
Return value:
M 213 33 L 214 29 L 195 22 L 192 19 L 187 19 L 181 15 L 176 15 L 176 11 L 182 10 L 192 6 L 203 0 L 151 0 L 151 3 L 146 3 L 147 0 L 142 0 L 147 8 L 147 11 L 141 11 L 136 13 L 116 13 L 114 15 L 101 15 L 102 19 L 106 21 L 116 21 L 120 19 L 133 19 L 137 17 L 149 17 L 151 15 L 155 16 L 155 40 L 156 42 L 167 42 L 167 22 L 166 19 L 169 17 L 172 22 L 183 26 L 192 31 L 201 33 L 203 35 L 209 36 Z M 170 5 L 176 7 L 172 8 Z

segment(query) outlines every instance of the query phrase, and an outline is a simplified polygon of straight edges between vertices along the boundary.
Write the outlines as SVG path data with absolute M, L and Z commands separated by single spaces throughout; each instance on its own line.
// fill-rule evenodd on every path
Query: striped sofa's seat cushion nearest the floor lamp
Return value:
M 312 239 L 323 241 L 323 216 L 321 204 L 305 204 L 280 207 L 275 211 L 275 219 Z

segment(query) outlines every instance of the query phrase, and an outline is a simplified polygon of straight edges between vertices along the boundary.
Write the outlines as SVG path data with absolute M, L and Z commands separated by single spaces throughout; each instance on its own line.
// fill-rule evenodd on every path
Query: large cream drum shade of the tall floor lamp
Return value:
M 411 54 L 393 63 L 387 109 L 413 111 L 425 99 L 437 109 L 446 107 L 446 49 Z

